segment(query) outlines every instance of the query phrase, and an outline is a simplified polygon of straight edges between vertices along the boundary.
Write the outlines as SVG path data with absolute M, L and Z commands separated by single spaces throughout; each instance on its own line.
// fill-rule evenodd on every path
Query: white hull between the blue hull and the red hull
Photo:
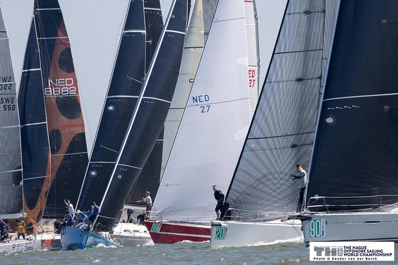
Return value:
M 133 223 L 119 223 L 113 229 L 113 237 L 122 246 L 154 245 L 145 225 Z

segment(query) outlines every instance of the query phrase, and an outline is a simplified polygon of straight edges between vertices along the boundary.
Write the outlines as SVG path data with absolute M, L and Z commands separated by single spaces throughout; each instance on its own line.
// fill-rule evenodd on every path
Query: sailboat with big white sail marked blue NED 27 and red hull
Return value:
M 244 1 L 219 0 L 151 220 L 145 222 L 155 243 L 210 239 L 211 186 L 228 185 L 250 123 L 248 70 Z

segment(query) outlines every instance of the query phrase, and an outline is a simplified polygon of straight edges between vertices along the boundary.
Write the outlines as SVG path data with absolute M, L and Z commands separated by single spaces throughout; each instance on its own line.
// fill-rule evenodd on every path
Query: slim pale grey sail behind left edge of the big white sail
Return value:
M 167 161 L 169 160 L 184 109 L 187 105 L 188 96 L 194 84 L 217 2 L 218 0 L 197 0 L 195 2 L 184 44 L 180 75 L 177 80 L 176 90 L 164 126 L 161 177 L 163 176 Z

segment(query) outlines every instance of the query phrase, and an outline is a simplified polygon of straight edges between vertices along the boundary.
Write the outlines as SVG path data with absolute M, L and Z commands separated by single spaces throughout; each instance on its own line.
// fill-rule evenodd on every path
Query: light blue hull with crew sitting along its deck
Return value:
M 92 231 L 72 226 L 62 228 L 61 243 L 62 247 L 67 249 L 87 249 L 99 244 L 106 247 L 121 247 L 112 240 L 106 239 Z

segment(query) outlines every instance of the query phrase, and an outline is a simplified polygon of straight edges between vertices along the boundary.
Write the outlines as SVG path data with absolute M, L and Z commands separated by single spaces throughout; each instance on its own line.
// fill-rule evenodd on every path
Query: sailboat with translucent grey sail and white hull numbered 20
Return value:
M 299 187 L 290 174 L 309 164 L 334 1 L 288 1 L 260 99 L 211 246 L 300 240 Z

